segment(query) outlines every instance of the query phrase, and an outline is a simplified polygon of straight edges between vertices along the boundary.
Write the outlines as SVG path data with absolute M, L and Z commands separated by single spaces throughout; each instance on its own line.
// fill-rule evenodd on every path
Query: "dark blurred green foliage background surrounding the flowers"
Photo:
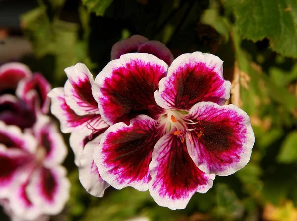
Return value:
M 88 195 L 70 151 L 65 166 L 71 198 L 53 220 L 297 221 L 296 0 L 37 0 L 30 5 L 19 24 L 32 53 L 21 61 L 53 87 L 63 86 L 64 68 L 77 62 L 99 73 L 115 42 L 140 34 L 166 44 L 174 57 L 194 51 L 219 56 L 232 82 L 229 103 L 250 115 L 256 136 L 245 168 L 217 176 L 212 189 L 196 193 L 179 211 L 159 207 L 148 191 L 133 188 L 110 187 L 103 198 Z M 0 6 L 5 8 L 5 0 Z

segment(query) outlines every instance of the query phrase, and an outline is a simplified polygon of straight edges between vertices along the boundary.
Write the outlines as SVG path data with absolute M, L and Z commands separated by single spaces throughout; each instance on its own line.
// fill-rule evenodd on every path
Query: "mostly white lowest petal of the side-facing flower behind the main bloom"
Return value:
M 110 186 L 100 176 L 93 160 L 95 146 L 99 145 L 101 135 L 87 143 L 79 161 L 79 180 L 88 193 L 103 197 L 105 189 Z

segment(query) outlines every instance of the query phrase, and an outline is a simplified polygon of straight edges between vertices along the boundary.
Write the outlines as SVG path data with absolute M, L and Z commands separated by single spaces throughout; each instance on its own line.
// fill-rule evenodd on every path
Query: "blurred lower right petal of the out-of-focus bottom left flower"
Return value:
M 27 186 L 29 200 L 49 215 L 60 213 L 68 198 L 70 183 L 62 166 L 42 167 L 34 171 Z

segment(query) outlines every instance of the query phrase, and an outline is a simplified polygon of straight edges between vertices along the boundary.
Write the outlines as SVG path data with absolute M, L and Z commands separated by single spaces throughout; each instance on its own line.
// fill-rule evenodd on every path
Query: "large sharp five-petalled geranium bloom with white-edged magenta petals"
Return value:
M 150 54 L 110 61 L 92 86 L 109 127 L 94 150 L 102 178 L 121 189 L 148 190 L 170 209 L 205 193 L 215 174 L 230 175 L 250 159 L 247 114 L 229 99 L 222 61 L 194 52 L 170 67 Z M 129 122 L 130 121 L 130 122 Z

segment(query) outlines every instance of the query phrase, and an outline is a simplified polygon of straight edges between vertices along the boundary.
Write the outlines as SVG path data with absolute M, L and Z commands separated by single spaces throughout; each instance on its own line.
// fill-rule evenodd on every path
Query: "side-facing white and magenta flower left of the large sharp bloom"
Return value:
M 93 160 L 94 142 L 99 143 L 108 124 L 99 114 L 91 86 L 93 75 L 81 63 L 65 69 L 68 80 L 65 87 L 52 89 L 51 112 L 61 123 L 63 133 L 71 133 L 70 146 L 79 167 L 79 179 L 83 187 L 92 195 L 102 197 L 109 186 L 97 170 Z

